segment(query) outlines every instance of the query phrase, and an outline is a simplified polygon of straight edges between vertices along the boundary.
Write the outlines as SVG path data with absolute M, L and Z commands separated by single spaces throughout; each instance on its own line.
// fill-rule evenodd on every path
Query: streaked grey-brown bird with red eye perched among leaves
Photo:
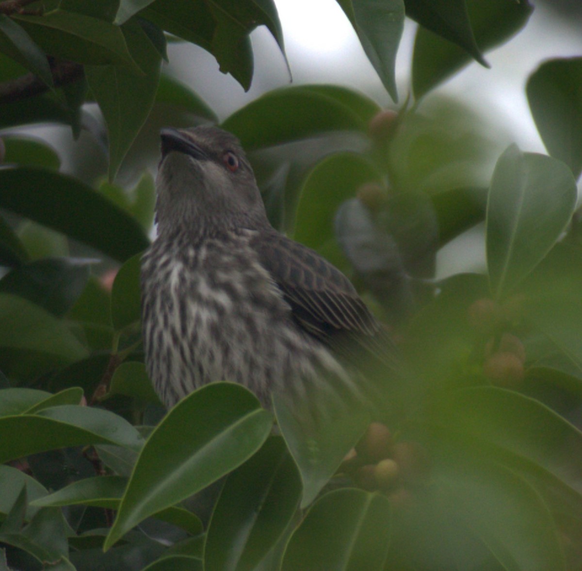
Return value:
M 358 393 L 350 359 L 389 360 L 349 280 L 272 228 L 239 141 L 217 127 L 163 129 L 157 239 L 141 268 L 145 360 L 173 406 L 212 381 L 308 395 Z

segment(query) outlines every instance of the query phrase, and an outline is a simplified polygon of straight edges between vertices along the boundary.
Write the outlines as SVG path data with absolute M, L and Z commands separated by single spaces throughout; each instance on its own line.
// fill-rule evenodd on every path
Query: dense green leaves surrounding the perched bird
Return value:
M 433 91 L 488 65 L 526 0 L 338 3 L 395 101 L 405 14 L 418 22 L 398 111 L 305 85 L 222 123 L 273 224 L 350 275 L 399 339 L 373 412 L 314 394 L 328 415 L 312 425 L 228 382 L 165 413 L 139 328 L 153 183 L 115 183 L 157 109 L 217 120 L 165 72 L 166 43 L 200 45 L 247 89 L 255 27 L 284 54 L 272 0 L 0 2 L 0 569 L 582 569 L 582 58 L 527 81 L 549 156 L 501 152 Z M 8 131 L 98 140 L 93 102 L 109 182 Z M 437 252 L 481 223 L 486 271 L 436 281 Z M 379 455 L 371 419 L 389 427 Z

